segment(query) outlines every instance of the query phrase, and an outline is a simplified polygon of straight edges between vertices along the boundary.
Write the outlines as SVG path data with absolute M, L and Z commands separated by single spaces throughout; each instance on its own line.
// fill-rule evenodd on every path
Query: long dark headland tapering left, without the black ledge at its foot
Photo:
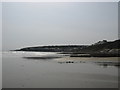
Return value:
M 92 45 L 65 45 L 65 46 L 40 46 L 26 47 L 15 51 L 62 52 L 76 54 L 119 54 L 120 40 L 107 42 L 99 41 Z

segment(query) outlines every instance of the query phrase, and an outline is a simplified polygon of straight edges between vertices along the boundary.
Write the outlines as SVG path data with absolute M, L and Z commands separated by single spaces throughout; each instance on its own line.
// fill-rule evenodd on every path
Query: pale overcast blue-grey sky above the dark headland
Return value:
M 2 4 L 3 50 L 118 39 L 117 2 Z

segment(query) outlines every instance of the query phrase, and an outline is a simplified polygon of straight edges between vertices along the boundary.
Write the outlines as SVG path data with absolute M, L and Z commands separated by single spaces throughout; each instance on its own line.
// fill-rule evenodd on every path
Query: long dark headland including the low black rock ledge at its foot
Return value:
M 99 41 L 92 45 L 60 45 L 25 47 L 12 51 L 57 52 L 69 54 L 70 57 L 120 57 L 120 39 L 115 41 Z

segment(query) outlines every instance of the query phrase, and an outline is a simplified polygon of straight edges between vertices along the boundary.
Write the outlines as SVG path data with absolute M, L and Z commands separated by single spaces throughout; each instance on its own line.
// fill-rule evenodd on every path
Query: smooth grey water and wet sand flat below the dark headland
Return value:
M 2 88 L 117 88 L 118 58 L 3 52 Z

